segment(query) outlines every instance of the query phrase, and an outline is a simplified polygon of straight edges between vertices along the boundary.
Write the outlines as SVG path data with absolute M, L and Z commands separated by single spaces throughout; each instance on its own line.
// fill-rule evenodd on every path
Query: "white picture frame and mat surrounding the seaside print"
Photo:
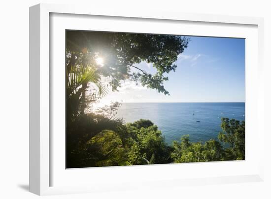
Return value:
M 56 17 L 54 21 L 50 17 Z M 174 13 L 166 11 L 150 11 L 148 13 L 138 13 L 133 10 L 101 10 L 93 7 L 85 7 L 83 5 L 57 5 L 57 4 L 38 4 L 30 7 L 30 191 L 37 195 L 55 195 L 55 194 L 69 194 L 69 193 L 85 193 L 85 192 L 102 192 L 112 190 L 127 190 L 127 189 L 149 189 L 159 188 L 161 184 L 163 187 L 170 186 L 182 186 L 182 185 L 203 185 L 203 184 L 217 184 L 217 183 L 236 183 L 236 182 L 256 182 L 264 179 L 264 159 L 261 156 L 257 156 L 256 152 L 251 155 L 251 158 L 245 161 L 231 161 L 231 162 L 208 162 L 208 163 L 186 163 L 186 164 L 170 164 L 170 165 L 154 165 L 154 166 L 122 166 L 116 168 L 86 168 L 86 169 L 71 169 L 66 170 L 63 166 L 63 161 L 58 162 L 58 159 L 65 159 L 63 157 L 63 144 L 65 140 L 61 141 L 63 136 L 55 136 L 53 134 L 54 128 L 63 128 L 63 126 L 54 126 L 52 121 L 53 117 L 63 117 L 61 113 L 63 109 L 61 106 L 53 106 L 52 104 L 59 103 L 56 99 L 63 99 L 62 95 L 56 96 L 57 93 L 61 93 L 63 87 L 56 86 L 54 84 L 54 75 L 61 75 L 63 71 L 56 71 L 55 63 L 62 63 L 62 60 L 55 60 L 53 54 L 61 52 L 65 44 L 63 40 L 59 38 L 58 33 L 63 33 L 63 30 L 68 28 L 85 30 L 83 26 L 79 25 L 73 27 L 66 27 L 63 18 L 70 17 L 70 19 L 86 21 L 90 20 L 92 16 L 95 16 L 94 20 L 104 19 L 99 21 L 105 23 L 110 20 L 119 20 L 121 23 L 161 23 L 164 26 L 175 24 L 179 26 L 182 23 L 191 24 L 194 23 L 194 27 L 188 27 L 188 29 L 194 29 L 198 31 L 202 26 L 209 26 L 209 30 L 213 31 L 212 35 L 209 32 L 204 32 L 201 29 L 199 36 L 213 36 L 213 37 L 241 37 L 247 35 L 249 38 L 248 47 L 252 48 L 251 51 L 246 52 L 246 114 L 247 110 L 249 115 L 246 115 L 246 120 L 255 120 L 252 124 L 246 122 L 246 132 L 254 130 L 257 132 L 257 154 L 264 154 L 264 128 L 263 119 L 260 119 L 261 115 L 264 115 L 264 91 L 263 85 L 263 44 L 264 44 L 264 31 L 262 18 L 255 17 L 237 17 L 237 16 L 224 16 L 224 15 L 205 15 L 205 14 L 188 14 L 188 13 Z M 122 20 L 122 21 L 121 21 Z M 52 23 L 53 22 L 53 23 Z M 98 24 L 93 21 L 93 24 Z M 74 21 L 73 21 L 74 23 Z M 52 25 L 53 24 L 53 25 Z M 72 24 L 72 23 L 71 23 Z M 131 26 L 125 25 L 120 27 L 115 21 L 115 27 L 99 27 L 96 25 L 95 30 L 103 31 L 128 31 L 135 32 Z M 184 25 L 185 25 L 184 24 Z M 220 26 L 224 31 L 217 31 L 215 27 Z M 229 27 L 236 29 L 235 32 L 228 32 Z M 251 27 L 251 28 L 250 28 Z M 59 32 L 54 32 L 50 29 L 59 29 Z M 172 33 L 172 28 L 169 32 Z M 188 30 L 187 29 L 187 30 Z M 151 30 L 149 30 L 150 32 Z M 155 33 L 160 33 L 159 29 L 153 29 Z M 158 32 L 157 32 L 158 31 Z M 164 30 L 165 31 L 165 30 Z M 175 33 L 175 32 L 174 32 Z M 177 34 L 178 32 L 176 32 Z M 183 35 L 191 32 L 183 33 Z M 53 34 L 53 35 L 52 35 Z M 225 35 L 226 34 L 226 35 Z M 231 35 L 232 34 L 232 35 Z M 190 34 L 191 35 L 191 34 Z M 60 35 L 61 36 L 61 35 Z M 51 38 L 50 38 L 51 37 Z M 55 40 L 52 40 L 55 38 Z M 65 38 L 63 38 L 65 39 Z M 64 45 L 64 46 L 63 46 Z M 250 49 L 249 48 L 249 49 Z M 60 49 L 58 51 L 58 49 Z M 250 58 L 255 54 L 253 58 Z M 63 52 L 64 53 L 64 52 Z M 61 55 L 61 54 L 59 54 Z M 64 66 L 64 65 L 63 65 Z M 247 68 L 248 67 L 248 68 Z M 52 73 L 54 75 L 52 75 Z M 64 77 L 64 75 L 63 75 Z M 252 83 L 253 81 L 253 83 Z M 59 88 L 56 88 L 59 87 Z M 54 91 L 54 88 L 59 89 Z M 58 92 L 60 91 L 60 92 Z M 257 93 L 257 94 L 255 94 Z M 59 104 L 56 104 L 59 105 Z M 253 108 L 254 107 L 254 108 Z M 53 114 L 53 115 L 52 115 Z M 56 115 L 54 115 L 56 114 Z M 63 115 L 63 114 L 62 114 Z M 253 116 L 251 116 L 253 115 Z M 252 118 L 253 117 L 253 118 Z M 63 121 L 63 120 L 62 120 Z M 60 122 L 61 123 L 61 122 Z M 247 141 L 248 140 L 248 141 Z M 251 143 L 252 139 L 246 135 L 246 153 L 248 152 L 247 144 Z M 61 142 L 61 143 L 59 143 Z M 60 149 L 56 149 L 55 144 L 58 143 Z M 62 151 L 61 151 L 62 149 Z M 56 151 L 57 150 L 57 151 Z M 252 153 L 252 152 L 251 152 Z M 251 154 L 250 151 L 248 153 Z M 255 158 L 257 156 L 257 159 Z M 194 176 L 190 176 L 187 172 L 187 176 L 182 173 L 182 176 L 173 176 L 167 178 L 167 176 L 155 177 L 155 172 L 169 169 L 176 171 L 177 169 L 195 169 L 202 168 L 206 171 L 205 175 L 195 172 Z M 228 172 L 219 174 L 210 173 L 210 170 L 215 171 L 218 168 L 228 168 Z M 234 169 L 236 168 L 236 169 Z M 235 170 L 235 172 L 233 171 Z M 113 171 L 113 172 L 112 172 Z M 137 178 L 138 173 L 148 173 L 144 178 Z M 102 179 L 98 179 L 98 175 L 105 173 L 109 176 L 102 176 Z M 115 174 L 113 174 L 115 173 Z M 92 178 L 96 179 L 95 184 L 92 183 L 89 178 L 83 176 L 92 175 Z M 115 179 L 119 177 L 117 182 L 111 181 L 110 178 Z M 126 176 L 133 176 L 134 182 L 129 182 Z M 60 180 L 63 179 L 63 180 Z M 70 180 L 68 180 L 70 179 Z M 76 180 L 80 179 L 80 183 L 74 184 Z M 105 181 L 106 180 L 106 181 Z M 69 182 L 70 181 L 70 182 Z M 106 183 L 104 183 L 106 182 Z M 138 183 L 140 182 L 140 183 Z M 152 182 L 151 184 L 149 182 Z M 113 184 L 114 183 L 114 184 Z M 166 185 L 165 185 L 166 184 Z

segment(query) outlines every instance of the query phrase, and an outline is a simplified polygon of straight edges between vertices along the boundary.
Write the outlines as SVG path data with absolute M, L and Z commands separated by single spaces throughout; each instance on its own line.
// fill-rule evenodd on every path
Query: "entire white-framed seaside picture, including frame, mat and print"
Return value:
M 31 192 L 261 181 L 262 34 L 261 18 L 31 7 Z

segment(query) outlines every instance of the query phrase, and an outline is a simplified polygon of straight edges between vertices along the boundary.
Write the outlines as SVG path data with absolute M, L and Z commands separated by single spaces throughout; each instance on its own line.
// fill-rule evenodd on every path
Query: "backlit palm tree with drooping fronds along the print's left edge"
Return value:
M 88 166 L 92 158 L 87 142 L 103 130 L 114 131 L 124 144 L 127 138 L 123 119 L 105 117 L 103 114 L 86 112 L 87 104 L 97 101 L 107 94 L 97 68 L 92 65 L 70 66 L 66 73 L 66 140 L 67 166 L 76 168 Z M 87 95 L 87 86 L 93 88 Z M 108 154 L 108 157 L 110 154 Z

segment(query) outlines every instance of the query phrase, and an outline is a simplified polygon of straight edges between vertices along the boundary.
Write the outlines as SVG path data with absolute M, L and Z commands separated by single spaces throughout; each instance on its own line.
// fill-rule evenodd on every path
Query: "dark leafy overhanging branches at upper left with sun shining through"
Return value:
M 74 65 L 85 64 L 96 73 L 109 78 L 112 90 L 118 90 L 120 80 L 134 80 L 143 86 L 169 94 L 163 83 L 165 74 L 175 71 L 178 55 L 188 46 L 189 39 L 173 35 L 130 34 L 91 31 L 66 32 L 66 66 L 69 73 Z M 104 61 L 99 67 L 96 60 Z M 145 61 L 152 63 L 152 75 L 135 66 Z M 131 72 L 131 68 L 137 72 Z

